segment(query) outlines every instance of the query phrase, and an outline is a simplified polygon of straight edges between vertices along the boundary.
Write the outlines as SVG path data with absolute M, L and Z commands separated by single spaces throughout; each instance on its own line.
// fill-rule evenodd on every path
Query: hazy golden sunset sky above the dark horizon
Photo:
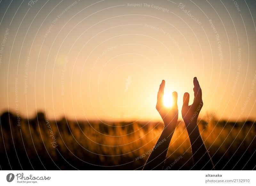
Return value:
M 203 92 L 199 117 L 256 118 L 255 1 L 0 1 L 0 113 L 160 120 L 156 95 Z M 181 112 L 179 112 L 181 119 Z

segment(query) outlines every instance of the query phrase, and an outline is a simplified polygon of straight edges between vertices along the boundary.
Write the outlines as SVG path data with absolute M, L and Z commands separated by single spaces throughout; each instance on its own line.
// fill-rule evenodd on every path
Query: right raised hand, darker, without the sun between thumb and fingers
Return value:
M 203 100 L 202 100 L 202 90 L 200 88 L 199 82 L 197 78 L 194 77 L 194 102 L 192 105 L 188 105 L 189 102 L 189 94 L 188 92 L 184 93 L 183 97 L 183 106 L 181 109 L 182 118 L 185 122 L 186 127 L 189 124 L 196 124 L 199 112 L 203 107 Z M 196 124 L 197 125 L 197 124 Z

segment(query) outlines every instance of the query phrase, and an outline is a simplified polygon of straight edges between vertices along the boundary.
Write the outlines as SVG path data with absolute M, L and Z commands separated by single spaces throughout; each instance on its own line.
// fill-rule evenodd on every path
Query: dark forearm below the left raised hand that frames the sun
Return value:
M 148 157 L 147 162 L 143 170 L 162 170 L 164 167 L 164 161 L 168 151 L 169 144 L 172 139 L 173 131 L 169 128 L 164 128 L 161 136 L 156 142 L 151 154 Z

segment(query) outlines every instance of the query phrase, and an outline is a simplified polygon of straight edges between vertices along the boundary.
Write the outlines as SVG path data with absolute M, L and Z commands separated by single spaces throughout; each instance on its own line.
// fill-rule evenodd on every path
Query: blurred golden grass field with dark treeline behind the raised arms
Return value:
M 10 112 L 0 119 L 2 170 L 141 170 L 163 129 L 153 122 L 48 121 L 43 113 L 20 123 Z M 198 125 L 216 170 L 255 169 L 254 122 L 201 120 Z M 193 164 L 182 121 L 167 156 L 164 168 L 170 170 Z

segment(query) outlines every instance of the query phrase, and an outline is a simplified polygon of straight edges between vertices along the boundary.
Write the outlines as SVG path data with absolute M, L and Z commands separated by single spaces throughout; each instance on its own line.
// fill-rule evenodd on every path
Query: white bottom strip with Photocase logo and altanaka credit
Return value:
M 255 171 L 0 171 L 0 185 L 256 185 L 255 173 Z

